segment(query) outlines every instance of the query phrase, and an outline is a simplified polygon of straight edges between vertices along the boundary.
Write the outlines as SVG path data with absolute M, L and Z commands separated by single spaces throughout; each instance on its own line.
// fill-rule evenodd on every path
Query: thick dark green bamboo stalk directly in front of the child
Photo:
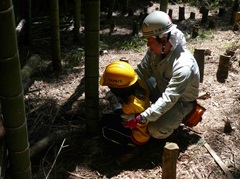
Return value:
M 85 96 L 87 127 L 97 132 L 99 119 L 99 30 L 100 0 L 85 1 Z

